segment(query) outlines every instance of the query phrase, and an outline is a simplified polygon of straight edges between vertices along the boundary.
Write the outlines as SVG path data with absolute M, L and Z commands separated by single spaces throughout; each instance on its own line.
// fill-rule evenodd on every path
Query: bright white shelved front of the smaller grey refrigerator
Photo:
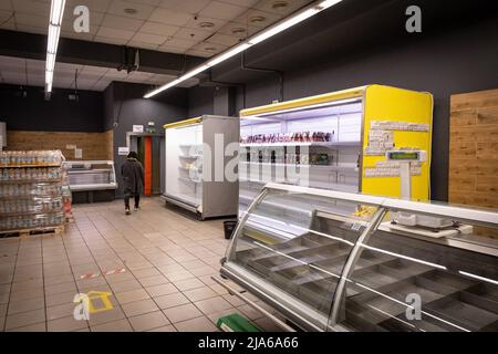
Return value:
M 166 195 L 195 207 L 201 205 L 201 124 L 166 129 Z

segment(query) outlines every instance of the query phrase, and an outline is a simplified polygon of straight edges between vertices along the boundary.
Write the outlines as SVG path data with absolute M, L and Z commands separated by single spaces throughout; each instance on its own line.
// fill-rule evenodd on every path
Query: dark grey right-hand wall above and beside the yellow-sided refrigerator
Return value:
M 427 91 L 434 95 L 432 198 L 448 198 L 449 96 L 498 87 L 498 21 L 427 37 L 423 41 L 390 42 L 385 38 L 366 51 L 313 60 L 313 65 L 284 72 L 284 100 L 365 84 Z M 279 98 L 278 81 L 247 84 L 247 106 Z M 241 108 L 239 93 L 237 104 Z

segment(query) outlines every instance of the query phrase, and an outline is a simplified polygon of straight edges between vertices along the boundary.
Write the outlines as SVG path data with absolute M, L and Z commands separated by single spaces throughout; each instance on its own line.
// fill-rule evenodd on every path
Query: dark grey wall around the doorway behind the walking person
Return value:
M 181 121 L 187 116 L 186 88 L 168 90 L 157 98 L 143 98 L 149 90 L 147 85 L 114 82 L 104 92 L 105 128 L 114 129 L 114 163 L 120 186 L 122 185 L 120 168 L 126 157 L 118 156 L 117 150 L 120 146 L 126 146 L 126 132 L 132 132 L 134 124 L 146 126 L 152 121 L 156 125 L 156 131 L 164 133 L 164 124 Z M 116 196 L 123 196 L 121 187 Z

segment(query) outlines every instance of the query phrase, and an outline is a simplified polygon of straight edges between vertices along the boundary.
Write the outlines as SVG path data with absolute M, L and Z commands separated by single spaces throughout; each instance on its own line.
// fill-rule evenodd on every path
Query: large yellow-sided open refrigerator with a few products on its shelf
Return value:
M 428 156 L 412 166 L 411 198 L 429 199 L 428 93 L 369 85 L 248 108 L 240 117 L 239 215 L 267 183 L 400 197 L 400 164 L 387 162 L 390 150 Z

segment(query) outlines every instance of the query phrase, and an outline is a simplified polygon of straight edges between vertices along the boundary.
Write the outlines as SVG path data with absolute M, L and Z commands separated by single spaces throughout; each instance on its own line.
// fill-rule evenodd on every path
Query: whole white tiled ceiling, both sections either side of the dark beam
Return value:
M 61 37 L 209 58 L 281 20 L 310 0 L 66 0 Z M 90 33 L 76 33 L 76 6 Z M 0 29 L 46 35 L 51 0 L 0 0 Z M 132 10 L 131 10 L 132 9 Z M 136 10 L 136 11 L 135 11 Z M 53 86 L 103 91 L 113 81 L 163 85 L 176 76 L 56 63 Z M 44 61 L 0 55 L 0 83 L 43 86 Z M 198 83 L 193 77 L 184 87 Z

